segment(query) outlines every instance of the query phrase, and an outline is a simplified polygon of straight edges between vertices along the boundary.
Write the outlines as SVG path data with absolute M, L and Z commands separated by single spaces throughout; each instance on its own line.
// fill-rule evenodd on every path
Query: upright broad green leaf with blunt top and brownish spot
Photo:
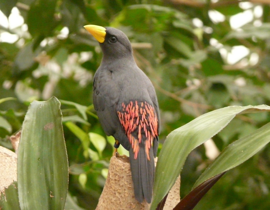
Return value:
M 17 171 L 22 210 L 64 209 L 68 156 L 56 97 L 30 104 L 22 125 Z

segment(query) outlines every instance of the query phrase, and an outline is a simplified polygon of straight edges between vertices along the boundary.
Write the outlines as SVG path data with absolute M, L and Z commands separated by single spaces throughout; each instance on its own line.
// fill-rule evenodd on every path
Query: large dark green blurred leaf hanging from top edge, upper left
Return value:
M 33 37 L 51 36 L 55 27 L 54 13 L 56 0 L 35 0 L 30 6 L 26 24 Z

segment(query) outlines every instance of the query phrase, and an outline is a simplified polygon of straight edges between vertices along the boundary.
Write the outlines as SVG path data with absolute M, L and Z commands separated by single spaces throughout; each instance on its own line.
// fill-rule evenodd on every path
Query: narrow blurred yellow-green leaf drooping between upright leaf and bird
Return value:
M 85 157 L 89 157 L 88 156 L 88 147 L 90 144 L 89 141 L 89 136 L 87 135 L 87 133 L 85 133 L 81 128 L 79 128 L 78 126 L 76 126 L 74 123 L 72 122 L 66 122 L 65 125 L 69 128 L 69 130 L 75 135 L 77 136 L 80 141 L 82 142 L 83 145 L 83 150 L 84 150 L 84 156 Z

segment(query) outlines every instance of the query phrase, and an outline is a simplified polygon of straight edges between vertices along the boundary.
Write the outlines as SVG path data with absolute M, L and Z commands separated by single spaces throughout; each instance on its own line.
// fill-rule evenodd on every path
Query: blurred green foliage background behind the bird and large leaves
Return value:
M 12 148 L 8 138 L 21 129 L 32 100 L 53 95 L 61 99 L 69 193 L 82 208 L 95 209 L 114 140 L 105 136 L 91 105 L 92 79 L 102 53 L 83 26 L 116 27 L 130 38 L 137 64 L 156 88 L 162 143 L 170 131 L 208 111 L 230 105 L 269 105 L 270 6 L 260 0 L 253 0 L 250 8 L 242 3 L 1 1 L 0 10 L 6 16 L 17 6 L 28 27 L 0 26 L 0 33 L 19 37 L 15 43 L 0 42 L 0 98 L 16 98 L 1 101 L 0 145 Z M 258 8 L 262 8 L 261 16 L 254 15 L 240 29 L 231 28 L 231 16 Z M 213 10 L 221 12 L 224 21 L 214 22 L 209 15 Z M 68 28 L 68 35 L 63 27 Z M 231 63 L 228 56 L 235 46 L 245 46 L 248 53 Z M 221 151 L 269 121 L 268 113 L 238 116 L 213 140 Z M 196 209 L 269 209 L 269 157 L 268 145 L 227 172 Z M 181 197 L 210 162 L 203 145 L 191 152 L 181 174 Z

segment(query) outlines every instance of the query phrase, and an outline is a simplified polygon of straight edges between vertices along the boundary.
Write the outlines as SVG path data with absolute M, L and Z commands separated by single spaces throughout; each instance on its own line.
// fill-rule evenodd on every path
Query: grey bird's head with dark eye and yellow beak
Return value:
M 122 31 L 112 27 L 104 28 L 96 25 L 84 27 L 99 42 L 104 57 L 120 59 L 132 56 L 130 41 Z

